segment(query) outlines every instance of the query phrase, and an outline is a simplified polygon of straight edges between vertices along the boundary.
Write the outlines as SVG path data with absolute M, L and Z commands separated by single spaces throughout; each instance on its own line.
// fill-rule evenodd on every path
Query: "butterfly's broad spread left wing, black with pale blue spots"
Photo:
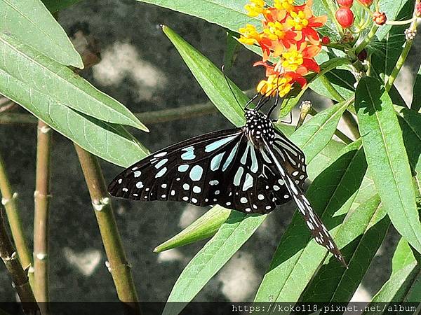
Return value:
M 268 163 L 271 160 L 250 144 L 241 128 L 223 130 L 150 155 L 116 176 L 108 191 L 130 200 L 220 204 L 265 214 L 290 200 Z

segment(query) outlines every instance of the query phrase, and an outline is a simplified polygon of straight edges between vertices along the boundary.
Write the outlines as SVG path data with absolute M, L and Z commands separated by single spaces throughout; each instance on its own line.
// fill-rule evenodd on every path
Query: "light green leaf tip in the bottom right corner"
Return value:
M 389 280 L 382 286 L 382 288 L 377 292 L 373 297 L 368 308 L 373 307 L 378 302 L 420 302 L 420 295 L 411 296 L 414 290 L 420 292 L 421 281 L 420 281 L 420 266 L 417 266 L 417 262 L 413 260 L 410 264 L 406 265 L 402 269 L 399 269 L 397 272 L 390 276 Z M 408 299 L 410 297 L 410 299 Z M 378 304 L 377 304 L 378 305 Z M 375 309 L 375 307 L 373 308 Z M 392 312 L 389 309 L 386 309 L 385 313 L 382 314 L 391 314 Z M 365 311 L 364 315 L 377 315 L 378 311 Z M 415 308 L 414 312 L 415 314 Z

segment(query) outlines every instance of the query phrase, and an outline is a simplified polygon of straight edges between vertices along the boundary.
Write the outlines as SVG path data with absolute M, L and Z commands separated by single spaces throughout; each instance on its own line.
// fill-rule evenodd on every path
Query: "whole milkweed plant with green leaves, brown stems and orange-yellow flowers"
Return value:
M 347 262 L 347 267 L 340 265 L 318 246 L 308 223 L 295 211 L 272 261 L 267 261 L 254 299 L 248 302 L 346 305 L 393 226 L 401 239 L 390 262 L 392 274 L 370 303 L 417 305 L 421 301 L 421 69 L 410 104 L 394 83 L 417 34 L 420 0 L 138 1 L 225 29 L 229 62 L 238 49 L 255 53 L 257 61 L 249 67 L 260 66 L 262 71 L 252 94 L 278 104 L 274 125 L 305 154 L 309 175 L 305 195 Z M 146 290 L 133 281 L 135 270 L 124 249 L 129 244 L 121 241 L 98 158 L 129 167 L 147 157 L 150 152 L 142 139 L 127 128 L 148 132 L 147 118 L 142 120 L 79 76 L 79 69 L 98 62 L 99 55 L 76 51 L 55 20 L 59 10 L 76 2 L 0 0 L 0 94 L 4 95 L 0 121 L 25 119 L 38 124 L 33 245 L 25 239 L 18 194 L 0 158 L 0 256 L 20 300 L 28 302 L 22 304 L 27 314 L 39 307 L 43 311 L 45 305 L 37 302 L 49 301 L 52 130 L 74 143 L 119 300 L 138 302 Z M 210 62 L 178 35 L 176 27 L 161 25 L 161 29 L 220 114 L 242 127 L 250 93 L 241 91 L 220 64 Z M 235 69 L 235 62 L 230 67 Z M 331 105 L 317 112 L 303 97 L 307 90 Z M 31 116 L 14 114 L 16 104 Z M 283 123 L 293 110 L 300 112 L 298 123 Z M 341 118 L 349 130 L 346 134 L 340 130 Z M 267 214 L 250 215 L 223 206 L 215 204 L 155 248 L 162 252 L 208 239 L 168 297 L 168 302 L 182 303 L 167 303 L 165 314 L 182 311 L 270 220 Z M 29 252 L 32 247 L 34 255 Z M 138 304 L 130 306 L 140 312 Z

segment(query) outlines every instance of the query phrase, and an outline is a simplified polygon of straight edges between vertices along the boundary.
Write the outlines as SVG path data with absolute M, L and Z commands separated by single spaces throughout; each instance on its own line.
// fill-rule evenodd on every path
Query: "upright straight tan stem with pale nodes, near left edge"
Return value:
M 34 294 L 48 302 L 48 210 L 50 203 L 51 128 L 38 123 L 34 193 Z

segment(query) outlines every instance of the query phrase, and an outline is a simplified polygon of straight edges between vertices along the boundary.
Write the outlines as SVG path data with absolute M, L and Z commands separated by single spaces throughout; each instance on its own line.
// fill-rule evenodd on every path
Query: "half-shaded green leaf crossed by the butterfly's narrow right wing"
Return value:
M 351 207 L 365 173 L 366 161 L 361 141 L 357 141 L 345 147 L 340 157 L 319 174 L 307 190 L 314 211 L 333 237 Z M 297 301 L 325 259 L 326 252 L 326 248 L 312 239 L 305 221 L 296 212 L 276 248 L 255 301 Z M 332 264 L 336 269 L 343 268 L 338 267 L 338 261 Z

